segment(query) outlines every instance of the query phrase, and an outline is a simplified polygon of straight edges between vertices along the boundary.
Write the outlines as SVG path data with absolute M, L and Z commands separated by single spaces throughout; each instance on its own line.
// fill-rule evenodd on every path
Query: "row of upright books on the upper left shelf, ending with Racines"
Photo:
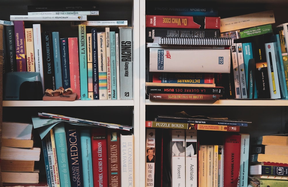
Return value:
M 132 99 L 132 27 L 80 24 L 79 37 L 59 38 L 58 31 L 42 33 L 41 24 L 13 24 L 5 26 L 5 72 L 39 72 L 43 92 L 71 87 L 76 99 Z

